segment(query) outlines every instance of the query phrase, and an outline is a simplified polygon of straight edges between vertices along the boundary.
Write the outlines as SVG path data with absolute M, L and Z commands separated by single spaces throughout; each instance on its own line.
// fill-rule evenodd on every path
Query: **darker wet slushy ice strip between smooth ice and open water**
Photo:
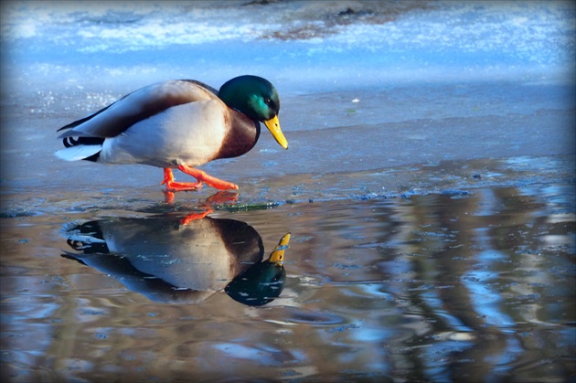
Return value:
M 396 198 L 412 195 L 474 194 L 482 187 L 528 187 L 574 184 L 574 155 L 511 157 L 471 161 L 439 161 L 424 165 L 407 165 L 362 172 L 293 174 L 284 176 L 243 177 L 235 203 L 222 203 L 226 210 L 244 207 L 274 207 L 310 201 L 357 201 L 371 198 Z M 119 178 L 109 182 L 92 176 L 91 183 L 79 179 L 74 186 L 45 186 L 42 191 L 19 186 L 3 190 L 3 217 L 75 214 L 105 211 L 120 214 L 146 211 L 150 206 L 168 210 L 203 208 L 216 190 L 180 192 L 174 197 L 175 207 L 166 205 L 164 186 L 151 182 L 132 186 L 143 175 L 133 167 L 120 167 Z M 351 202 L 354 203 L 354 202 Z M 236 207 L 235 207 L 236 206 Z

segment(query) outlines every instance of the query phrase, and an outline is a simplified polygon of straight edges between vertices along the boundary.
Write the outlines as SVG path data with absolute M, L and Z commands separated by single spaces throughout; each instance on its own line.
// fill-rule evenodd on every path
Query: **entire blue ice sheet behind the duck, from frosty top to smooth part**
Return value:
M 246 72 L 280 91 L 290 150 L 264 132 L 251 153 L 206 166 L 240 186 L 573 154 L 572 11 L 570 2 L 5 5 L 2 180 L 152 186 L 158 171 L 145 166 L 57 160 L 56 129 L 154 81 L 218 88 Z

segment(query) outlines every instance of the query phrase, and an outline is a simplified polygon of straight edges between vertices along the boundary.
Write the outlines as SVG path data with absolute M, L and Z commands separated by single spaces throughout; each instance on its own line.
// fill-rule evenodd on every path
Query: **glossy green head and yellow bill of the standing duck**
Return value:
M 222 85 L 218 95 L 230 108 L 264 122 L 276 142 L 288 149 L 278 121 L 280 98 L 269 80 L 250 75 L 236 77 Z

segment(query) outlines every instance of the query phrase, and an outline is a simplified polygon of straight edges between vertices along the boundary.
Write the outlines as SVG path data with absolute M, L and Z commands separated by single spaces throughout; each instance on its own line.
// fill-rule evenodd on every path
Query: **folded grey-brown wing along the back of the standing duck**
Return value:
M 127 94 L 122 99 L 88 117 L 60 128 L 66 137 L 115 137 L 134 123 L 143 121 L 176 105 L 218 99 L 218 90 L 195 80 L 159 82 Z

